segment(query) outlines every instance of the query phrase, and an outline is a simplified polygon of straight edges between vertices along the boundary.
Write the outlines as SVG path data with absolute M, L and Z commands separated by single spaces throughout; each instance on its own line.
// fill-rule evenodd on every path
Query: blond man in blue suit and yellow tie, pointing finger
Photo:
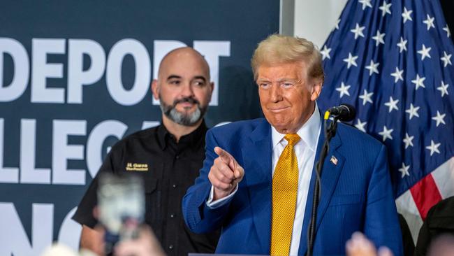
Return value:
M 321 55 L 303 38 L 272 35 L 251 62 L 265 119 L 207 132 L 184 220 L 193 232 L 221 227 L 217 253 L 305 255 L 314 162 L 325 141 L 316 105 Z M 357 231 L 402 255 L 386 148 L 339 124 L 321 175 L 314 255 L 344 255 Z

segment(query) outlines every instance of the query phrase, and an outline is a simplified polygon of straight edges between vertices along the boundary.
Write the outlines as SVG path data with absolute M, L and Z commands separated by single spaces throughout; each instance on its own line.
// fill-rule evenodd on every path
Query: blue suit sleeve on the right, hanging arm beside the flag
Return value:
M 395 256 L 402 255 L 402 232 L 384 145 L 376 157 L 367 189 L 364 232 L 377 247 L 386 246 Z

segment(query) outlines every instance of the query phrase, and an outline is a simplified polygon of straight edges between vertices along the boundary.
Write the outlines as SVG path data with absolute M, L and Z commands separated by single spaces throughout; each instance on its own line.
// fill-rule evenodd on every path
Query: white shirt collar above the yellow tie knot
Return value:
M 296 134 L 300 136 L 301 140 L 304 141 L 304 143 L 314 152 L 318 142 L 318 131 L 320 131 L 320 126 L 321 116 L 316 102 L 314 113 L 312 113 L 311 117 L 296 132 Z M 282 139 L 284 139 L 284 136 L 285 134 L 279 133 L 279 131 L 277 131 L 276 128 L 271 126 L 271 138 L 273 148 L 277 144 L 279 144 L 282 141 Z

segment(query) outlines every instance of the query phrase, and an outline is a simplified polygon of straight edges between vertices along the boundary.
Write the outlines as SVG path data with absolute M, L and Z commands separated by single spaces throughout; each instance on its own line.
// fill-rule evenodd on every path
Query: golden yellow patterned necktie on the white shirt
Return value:
M 290 251 L 298 192 L 298 160 L 293 145 L 298 134 L 286 134 L 288 144 L 277 161 L 272 177 L 272 218 L 270 255 L 284 256 Z

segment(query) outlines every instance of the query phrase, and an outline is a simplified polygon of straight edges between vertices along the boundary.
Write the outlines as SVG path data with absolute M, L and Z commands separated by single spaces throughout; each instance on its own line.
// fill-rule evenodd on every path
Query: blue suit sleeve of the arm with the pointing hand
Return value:
M 214 147 L 219 144 L 214 138 L 212 130 L 207 131 L 205 138 L 205 161 L 200 169 L 200 174 L 194 185 L 189 187 L 182 201 L 182 211 L 184 222 L 192 232 L 205 233 L 212 232 L 219 227 L 228 213 L 230 201 L 217 208 L 206 206 L 207 198 L 210 195 L 211 183 L 208 180 L 208 173 L 217 155 Z

